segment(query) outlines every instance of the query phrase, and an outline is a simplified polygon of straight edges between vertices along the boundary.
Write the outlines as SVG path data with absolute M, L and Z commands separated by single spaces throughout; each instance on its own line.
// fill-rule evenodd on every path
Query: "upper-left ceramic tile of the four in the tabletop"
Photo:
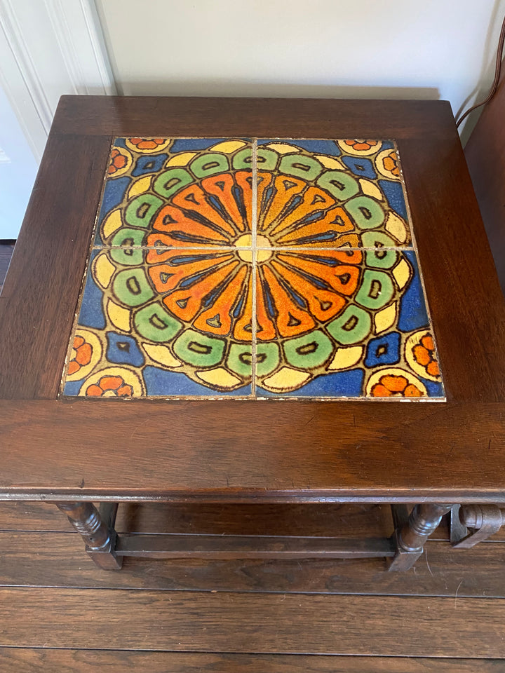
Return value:
M 117 138 L 95 245 L 247 247 L 252 162 L 241 138 Z

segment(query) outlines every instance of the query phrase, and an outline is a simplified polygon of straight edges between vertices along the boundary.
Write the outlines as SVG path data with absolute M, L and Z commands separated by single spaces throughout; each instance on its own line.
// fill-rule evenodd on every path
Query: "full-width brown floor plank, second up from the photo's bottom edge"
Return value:
M 16 587 L 0 590 L 0 645 L 505 658 L 504 609 L 504 599 Z

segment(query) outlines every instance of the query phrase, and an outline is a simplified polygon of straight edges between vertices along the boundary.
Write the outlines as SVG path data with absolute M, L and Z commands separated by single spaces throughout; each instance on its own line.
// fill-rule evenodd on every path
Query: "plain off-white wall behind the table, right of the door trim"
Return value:
M 95 1 L 126 95 L 440 97 L 454 113 L 492 78 L 505 13 L 505 0 Z

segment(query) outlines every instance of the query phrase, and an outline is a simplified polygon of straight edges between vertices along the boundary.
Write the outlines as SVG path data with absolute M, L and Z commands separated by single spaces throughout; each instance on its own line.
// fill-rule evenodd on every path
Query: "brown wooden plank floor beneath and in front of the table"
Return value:
M 230 507 L 235 514 L 231 515 Z M 386 535 L 386 505 L 121 505 L 121 532 Z M 125 559 L 100 571 L 54 505 L 0 503 L 0 671 L 505 671 L 505 536 L 407 573 L 374 560 Z

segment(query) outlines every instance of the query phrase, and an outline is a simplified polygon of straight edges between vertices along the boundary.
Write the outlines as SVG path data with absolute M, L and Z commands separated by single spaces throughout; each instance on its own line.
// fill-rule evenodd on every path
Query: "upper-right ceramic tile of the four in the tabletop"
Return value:
M 283 247 L 410 247 L 398 151 L 381 140 L 258 140 L 257 235 Z

